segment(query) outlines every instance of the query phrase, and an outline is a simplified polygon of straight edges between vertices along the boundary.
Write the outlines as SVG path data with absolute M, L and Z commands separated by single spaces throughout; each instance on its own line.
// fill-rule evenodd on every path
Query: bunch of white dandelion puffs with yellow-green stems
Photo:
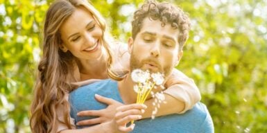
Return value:
M 131 73 L 132 81 L 137 83 L 133 88 L 137 93 L 137 102 L 143 104 L 150 94 L 155 101 L 153 102 L 153 106 L 155 109 L 152 112 L 151 118 L 155 118 L 155 114 L 157 114 L 157 109 L 160 108 L 160 103 L 164 103 L 165 97 L 163 92 L 154 93 L 152 91 L 153 88 L 161 87 L 164 82 L 164 75 L 162 73 L 151 73 L 147 71 L 142 71 L 141 69 L 135 69 Z M 151 80 L 152 79 L 152 80 Z M 134 121 L 132 121 L 133 123 Z

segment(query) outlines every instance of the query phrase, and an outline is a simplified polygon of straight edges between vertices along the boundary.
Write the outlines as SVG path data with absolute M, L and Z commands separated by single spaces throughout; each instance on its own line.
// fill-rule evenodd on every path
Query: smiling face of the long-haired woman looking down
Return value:
M 80 60 L 94 60 L 102 54 L 103 30 L 85 8 L 76 8 L 60 27 L 63 51 Z

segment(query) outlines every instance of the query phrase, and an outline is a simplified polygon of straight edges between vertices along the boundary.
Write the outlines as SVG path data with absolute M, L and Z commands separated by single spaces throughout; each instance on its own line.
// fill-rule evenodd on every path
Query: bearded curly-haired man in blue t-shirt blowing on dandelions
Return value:
M 130 71 L 142 69 L 160 72 L 164 73 L 165 79 L 168 78 L 182 57 L 182 47 L 187 41 L 189 27 L 189 18 L 180 8 L 170 3 L 145 3 L 135 12 L 132 21 L 132 37 L 128 40 Z M 102 80 L 76 89 L 69 95 L 71 117 L 76 122 L 95 118 L 76 115 L 82 110 L 106 107 L 94 99 L 95 94 L 126 105 L 135 103 L 137 94 L 134 85 L 135 82 L 128 75 L 120 82 Z M 151 112 L 146 110 L 146 113 Z M 146 118 L 135 121 L 135 125 L 132 132 L 214 132 L 212 118 L 202 103 L 197 103 L 185 114 L 170 114 L 153 120 Z

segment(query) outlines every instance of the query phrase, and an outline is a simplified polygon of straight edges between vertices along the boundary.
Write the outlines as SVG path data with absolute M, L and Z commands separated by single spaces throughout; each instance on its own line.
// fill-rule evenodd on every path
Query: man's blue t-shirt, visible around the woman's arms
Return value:
M 74 118 L 75 123 L 89 118 L 96 118 L 96 116 L 80 117 L 76 115 L 78 112 L 104 109 L 107 107 L 107 105 L 99 103 L 94 98 L 94 94 L 112 98 L 123 103 L 117 82 L 114 80 L 101 80 L 79 87 L 69 94 L 71 117 Z M 80 126 L 77 127 L 81 128 Z M 132 132 L 209 133 L 214 132 L 214 125 L 207 107 L 203 103 L 197 103 L 193 109 L 190 109 L 184 114 L 170 114 L 156 117 L 155 119 L 146 118 L 141 121 L 135 121 L 135 129 Z

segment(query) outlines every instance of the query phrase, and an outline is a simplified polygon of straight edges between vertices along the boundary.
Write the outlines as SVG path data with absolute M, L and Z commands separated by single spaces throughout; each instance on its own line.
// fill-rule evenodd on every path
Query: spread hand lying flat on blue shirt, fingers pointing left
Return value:
M 96 100 L 101 103 L 105 103 L 107 108 L 100 110 L 86 110 L 82 112 L 78 112 L 77 116 L 99 116 L 98 118 L 92 118 L 89 120 L 79 121 L 77 125 L 93 125 L 98 123 L 105 123 L 107 121 L 112 121 L 116 114 L 116 108 L 123 105 L 119 103 L 117 100 L 113 100 L 112 98 L 105 98 L 98 94 L 95 95 Z

